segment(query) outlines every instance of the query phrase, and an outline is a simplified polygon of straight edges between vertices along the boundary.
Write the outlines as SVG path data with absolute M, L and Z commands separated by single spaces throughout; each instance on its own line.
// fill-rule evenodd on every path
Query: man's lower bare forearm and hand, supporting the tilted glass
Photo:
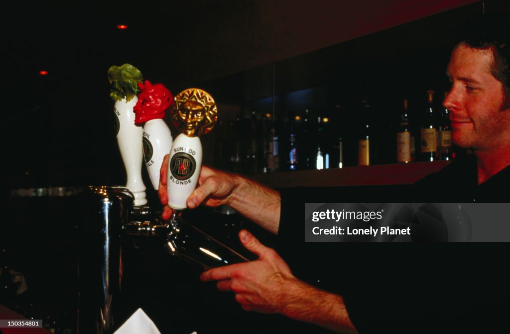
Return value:
M 338 332 L 356 333 L 341 296 L 319 290 L 292 275 L 289 266 L 271 248 L 246 230 L 243 245 L 259 259 L 203 272 L 203 281 L 218 280 L 219 290 L 233 291 L 246 311 L 280 313 Z

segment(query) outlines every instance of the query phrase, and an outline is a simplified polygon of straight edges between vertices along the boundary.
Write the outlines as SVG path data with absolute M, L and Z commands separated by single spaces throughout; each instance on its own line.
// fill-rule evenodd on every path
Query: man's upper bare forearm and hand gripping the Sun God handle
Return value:
M 171 209 L 166 206 L 168 203 L 166 191 L 168 157 L 169 155 L 165 156 L 161 166 L 158 190 L 161 203 L 165 205 L 163 219 L 168 219 L 171 215 Z M 188 208 L 196 208 L 202 202 L 210 207 L 228 204 L 269 232 L 278 233 L 281 199 L 276 190 L 245 177 L 207 166 L 202 166 L 198 185 L 186 201 Z

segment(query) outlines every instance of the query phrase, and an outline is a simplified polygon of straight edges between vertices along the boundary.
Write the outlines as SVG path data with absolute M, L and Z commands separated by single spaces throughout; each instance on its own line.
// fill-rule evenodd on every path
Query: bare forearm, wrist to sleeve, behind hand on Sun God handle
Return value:
M 269 187 L 236 175 L 237 187 L 228 205 L 273 234 L 278 234 L 280 194 Z

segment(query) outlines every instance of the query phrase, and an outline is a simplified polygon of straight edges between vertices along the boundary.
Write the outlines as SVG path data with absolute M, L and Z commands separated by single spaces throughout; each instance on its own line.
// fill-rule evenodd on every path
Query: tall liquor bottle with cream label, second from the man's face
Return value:
M 438 130 L 436 125 L 436 107 L 434 106 L 434 91 L 429 90 L 427 94 L 427 107 L 421 124 L 421 160 L 435 161 L 438 159 Z

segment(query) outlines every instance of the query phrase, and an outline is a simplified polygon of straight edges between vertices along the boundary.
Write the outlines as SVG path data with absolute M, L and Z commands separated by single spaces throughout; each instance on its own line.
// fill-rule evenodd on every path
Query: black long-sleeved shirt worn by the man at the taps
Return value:
M 296 277 L 343 296 L 361 334 L 498 331 L 508 243 L 305 243 L 303 212 L 306 202 L 506 202 L 509 186 L 510 167 L 477 185 L 471 156 L 413 186 L 282 190 L 277 250 Z

